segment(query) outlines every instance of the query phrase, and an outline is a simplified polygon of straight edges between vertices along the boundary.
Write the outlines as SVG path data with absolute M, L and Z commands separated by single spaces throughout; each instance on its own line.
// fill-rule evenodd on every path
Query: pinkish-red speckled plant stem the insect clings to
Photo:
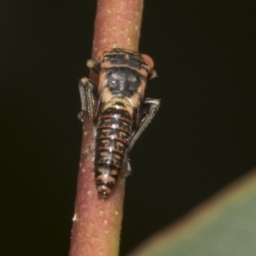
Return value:
M 92 57 L 106 47 L 136 50 L 142 20 L 143 0 L 98 0 Z M 96 80 L 95 75 L 90 79 Z M 92 143 L 89 117 L 83 124 L 81 153 Z M 70 256 L 115 256 L 123 217 L 125 177 L 108 198 L 97 195 L 94 177 L 94 152 L 81 156 L 78 190 L 73 218 Z M 82 155 L 82 154 L 81 154 Z

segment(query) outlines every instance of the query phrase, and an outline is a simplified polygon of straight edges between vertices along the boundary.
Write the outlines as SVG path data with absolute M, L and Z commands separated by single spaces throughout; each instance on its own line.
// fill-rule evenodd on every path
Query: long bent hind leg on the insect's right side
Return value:
M 129 144 L 129 151 L 133 147 L 134 143 L 136 143 L 138 137 L 141 136 L 144 129 L 148 126 L 151 120 L 154 118 L 154 115 L 157 113 L 158 108 L 160 107 L 160 101 L 156 99 L 146 98 L 143 102 L 143 119 L 138 126 L 137 131 L 132 135 L 131 141 Z

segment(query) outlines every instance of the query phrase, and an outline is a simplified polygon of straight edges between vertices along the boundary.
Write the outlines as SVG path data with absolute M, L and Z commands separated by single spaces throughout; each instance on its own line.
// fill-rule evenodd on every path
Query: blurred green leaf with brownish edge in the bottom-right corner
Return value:
M 256 172 L 160 232 L 130 256 L 255 256 Z

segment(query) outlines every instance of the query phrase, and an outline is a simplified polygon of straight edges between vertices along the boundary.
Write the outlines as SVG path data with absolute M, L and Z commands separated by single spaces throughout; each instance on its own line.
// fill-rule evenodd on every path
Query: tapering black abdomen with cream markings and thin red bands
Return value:
M 124 104 L 122 99 L 102 108 L 96 127 L 95 148 L 95 176 L 100 195 L 111 192 L 125 165 L 131 123 L 131 106 Z

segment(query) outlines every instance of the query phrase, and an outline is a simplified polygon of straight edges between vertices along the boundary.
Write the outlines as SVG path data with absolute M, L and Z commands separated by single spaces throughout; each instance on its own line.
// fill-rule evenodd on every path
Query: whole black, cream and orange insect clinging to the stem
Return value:
M 160 107 L 159 100 L 144 96 L 147 80 L 156 72 L 148 55 L 118 48 L 103 49 L 87 67 L 98 75 L 98 83 L 80 79 L 79 119 L 84 121 L 84 111 L 88 112 L 96 187 L 99 195 L 107 196 L 122 170 L 125 176 L 131 173 L 128 152 Z

